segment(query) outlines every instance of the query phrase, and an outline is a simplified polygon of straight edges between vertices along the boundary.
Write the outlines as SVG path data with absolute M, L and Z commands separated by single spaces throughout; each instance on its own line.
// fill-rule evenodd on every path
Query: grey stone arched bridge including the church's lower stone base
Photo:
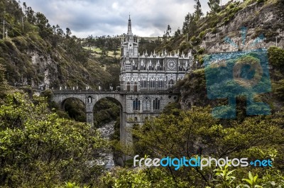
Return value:
M 114 92 L 92 90 L 53 90 L 53 101 L 64 109 L 65 101 L 79 99 L 85 106 L 86 121 L 94 125 L 94 105 L 103 98 L 112 98 L 120 104 L 120 140 L 129 145 L 134 124 L 141 125 L 149 116 L 159 116 L 164 107 L 178 100 L 178 93 L 170 91 Z

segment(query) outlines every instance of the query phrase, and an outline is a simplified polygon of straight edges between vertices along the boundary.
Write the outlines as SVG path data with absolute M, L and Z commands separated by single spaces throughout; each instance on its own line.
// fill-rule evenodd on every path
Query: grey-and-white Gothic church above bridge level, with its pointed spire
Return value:
M 192 56 L 151 52 L 139 55 L 139 40 L 133 35 L 129 17 L 128 31 L 121 40 L 121 91 L 149 92 L 170 89 L 192 65 Z

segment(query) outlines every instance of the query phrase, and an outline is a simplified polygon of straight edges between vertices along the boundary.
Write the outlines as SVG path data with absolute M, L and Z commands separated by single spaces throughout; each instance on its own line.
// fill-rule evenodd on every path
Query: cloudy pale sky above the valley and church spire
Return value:
M 204 13 L 208 0 L 200 0 Z M 229 0 L 223 0 L 225 4 Z M 129 14 L 132 31 L 139 36 L 162 36 L 170 25 L 172 33 L 193 13 L 194 0 L 23 0 L 33 11 L 43 13 L 51 26 L 59 25 L 72 35 L 121 35 L 127 32 Z

